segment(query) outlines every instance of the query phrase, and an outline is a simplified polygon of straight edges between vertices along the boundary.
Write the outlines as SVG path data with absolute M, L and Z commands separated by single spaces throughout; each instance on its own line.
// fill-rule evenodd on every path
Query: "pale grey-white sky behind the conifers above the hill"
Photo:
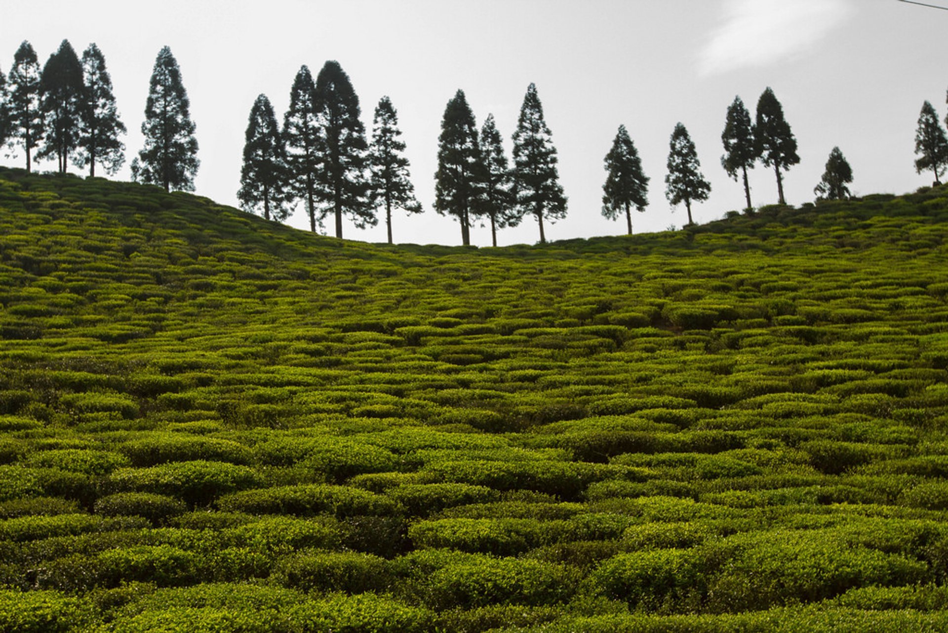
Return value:
M 316 75 L 337 60 L 367 130 L 383 95 L 398 110 L 426 213 L 396 214 L 396 242 L 460 243 L 457 223 L 431 210 L 441 117 L 458 88 L 479 127 L 494 114 L 509 157 L 523 94 L 537 84 L 569 197 L 569 215 L 546 234 L 563 239 L 624 233 L 624 222 L 600 213 L 603 157 L 620 124 L 651 178 L 650 205 L 633 217 L 634 230 L 661 231 L 685 218 L 684 207 L 672 213 L 665 200 L 677 121 L 712 183 L 710 199 L 694 208 L 705 222 L 743 206 L 740 184 L 720 167 L 720 133 L 735 95 L 752 116 L 768 85 L 783 103 L 802 159 L 785 175 L 786 193 L 800 204 L 812 200 L 834 145 L 852 165 L 857 194 L 930 184 L 930 173 L 915 173 L 915 127 L 925 100 L 944 117 L 948 87 L 948 11 L 898 0 L 46 0 L 8 2 L 2 12 L 4 73 L 25 39 L 41 65 L 64 38 L 79 53 L 98 44 L 129 128 L 127 163 L 141 148 L 155 55 L 170 46 L 197 125 L 196 193 L 233 205 L 256 96 L 265 93 L 282 121 L 300 66 Z M 118 178 L 128 177 L 126 164 Z M 758 166 L 751 184 L 756 205 L 775 202 L 772 170 Z M 307 225 L 302 208 L 289 222 Z M 384 241 L 385 228 L 359 231 L 347 222 L 344 235 Z M 475 227 L 471 239 L 489 245 L 489 229 Z M 499 234 L 501 245 L 537 239 L 529 217 Z

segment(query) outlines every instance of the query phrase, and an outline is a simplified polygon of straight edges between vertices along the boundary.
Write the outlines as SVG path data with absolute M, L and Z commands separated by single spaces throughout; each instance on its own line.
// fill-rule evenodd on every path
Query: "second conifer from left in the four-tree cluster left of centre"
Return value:
M 283 141 L 286 143 L 288 193 L 303 199 L 309 215 L 309 230 L 316 233 L 322 228 L 326 210 L 317 209 L 317 185 L 319 174 L 319 126 L 316 112 L 316 84 L 309 67 L 300 67 L 293 87 L 290 89 L 290 105 L 283 117 Z

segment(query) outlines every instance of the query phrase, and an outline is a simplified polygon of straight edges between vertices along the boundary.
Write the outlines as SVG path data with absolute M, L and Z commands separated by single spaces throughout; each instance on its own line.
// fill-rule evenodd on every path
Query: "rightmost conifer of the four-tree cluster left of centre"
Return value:
M 369 146 L 369 199 L 375 209 L 385 208 L 385 226 L 392 244 L 392 209 L 420 214 L 421 205 L 414 196 L 409 175 L 409 159 L 403 156 L 405 143 L 399 140 L 398 113 L 388 97 L 375 106 L 372 122 L 372 143 Z

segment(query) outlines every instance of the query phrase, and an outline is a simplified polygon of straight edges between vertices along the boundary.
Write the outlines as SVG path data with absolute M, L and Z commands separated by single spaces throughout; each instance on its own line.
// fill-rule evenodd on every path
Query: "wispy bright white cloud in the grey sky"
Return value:
M 724 0 L 723 20 L 702 48 L 703 75 L 799 55 L 841 25 L 852 0 Z

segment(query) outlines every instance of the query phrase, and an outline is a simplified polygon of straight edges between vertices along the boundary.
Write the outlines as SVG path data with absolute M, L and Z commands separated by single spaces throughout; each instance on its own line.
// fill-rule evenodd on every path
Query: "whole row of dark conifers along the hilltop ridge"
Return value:
M 266 219 L 285 220 L 297 205 L 309 217 L 310 230 L 324 228 L 327 217 L 342 237 L 342 218 L 357 228 L 375 226 L 384 212 L 392 242 L 392 212 L 410 214 L 423 209 L 414 195 L 405 142 L 400 140 L 398 116 L 389 97 L 374 109 L 371 138 L 360 120 L 356 91 L 342 67 L 326 62 L 316 80 L 301 66 L 290 91 L 283 125 L 265 95 L 253 103 L 246 128 L 244 162 L 238 197 L 244 209 Z M 181 71 L 169 47 L 155 59 L 141 124 L 144 147 L 132 161 L 134 180 L 192 191 L 200 161 L 191 121 L 190 102 Z M 82 59 L 67 40 L 41 69 L 28 42 L 16 51 L 9 76 L 0 72 L 0 143 L 20 147 L 27 172 L 33 159 L 55 157 L 64 174 L 71 160 L 96 175 L 100 164 L 115 174 L 124 163 L 126 127 L 118 116 L 105 58 L 95 44 Z M 537 87 L 530 84 L 512 136 L 513 160 L 508 162 L 493 115 L 478 129 L 463 90 L 447 102 L 438 138 L 434 210 L 453 216 L 461 227 L 462 243 L 470 243 L 475 221 L 497 232 L 529 215 L 537 219 L 539 241 L 545 241 L 544 221 L 556 222 L 567 213 L 567 197 L 559 184 L 556 147 L 543 117 Z M 747 170 L 759 161 L 775 171 L 777 195 L 785 204 L 782 172 L 799 163 L 797 144 L 783 108 L 771 88 L 764 90 L 751 115 L 740 97 L 728 107 L 721 134 L 721 166 L 728 176 L 742 179 L 746 209 L 753 209 Z M 35 154 L 33 153 L 35 150 Z M 932 170 L 935 182 L 948 168 L 948 136 L 930 102 L 924 102 L 916 133 L 916 171 Z M 649 178 L 620 125 L 605 158 L 602 214 L 624 215 L 632 232 L 631 210 L 644 212 Z M 848 197 L 852 169 L 834 147 L 826 172 L 814 189 L 817 199 Z M 672 206 L 684 202 L 688 224 L 691 205 L 708 198 L 711 185 L 701 172 L 694 142 L 682 123 L 669 144 L 665 197 Z

